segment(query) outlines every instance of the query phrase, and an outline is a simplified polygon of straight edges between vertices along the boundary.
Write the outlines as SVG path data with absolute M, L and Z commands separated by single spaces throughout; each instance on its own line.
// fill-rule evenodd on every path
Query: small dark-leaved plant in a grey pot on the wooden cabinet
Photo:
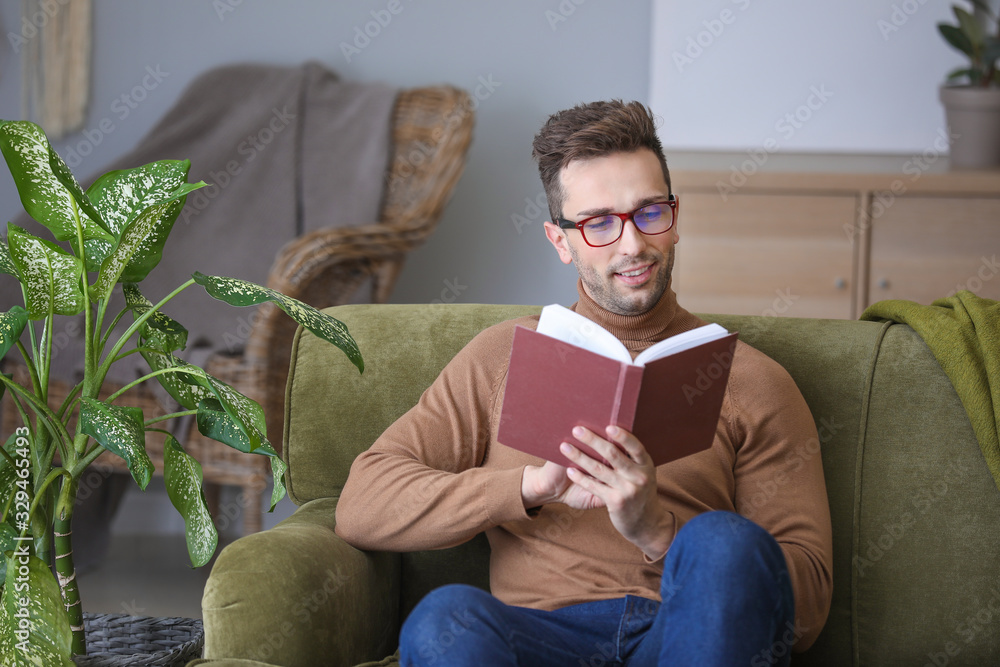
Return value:
M 945 40 L 969 62 L 941 86 L 951 137 L 951 166 L 984 169 L 1000 165 L 1000 19 L 985 0 L 971 0 L 975 14 L 955 5 L 957 24 L 939 23 Z M 984 27 L 985 19 L 986 27 Z

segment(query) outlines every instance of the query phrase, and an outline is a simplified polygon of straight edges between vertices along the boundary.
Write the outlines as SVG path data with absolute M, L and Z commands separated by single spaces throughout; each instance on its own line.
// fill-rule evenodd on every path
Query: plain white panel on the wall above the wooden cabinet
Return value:
M 654 0 L 650 104 L 668 148 L 920 152 L 962 56 L 949 0 Z M 775 150 L 776 150 L 775 149 Z

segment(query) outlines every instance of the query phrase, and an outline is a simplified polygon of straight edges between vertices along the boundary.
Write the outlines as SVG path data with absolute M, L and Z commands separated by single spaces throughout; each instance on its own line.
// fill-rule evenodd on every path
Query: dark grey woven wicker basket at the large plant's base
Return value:
M 199 619 L 84 613 L 87 655 L 78 667 L 184 667 L 201 657 L 205 631 Z

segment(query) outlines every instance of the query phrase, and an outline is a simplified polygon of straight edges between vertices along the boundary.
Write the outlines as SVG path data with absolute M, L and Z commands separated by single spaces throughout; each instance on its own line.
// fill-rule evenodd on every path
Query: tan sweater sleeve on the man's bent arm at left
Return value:
M 507 329 L 480 333 L 355 459 L 337 503 L 340 537 L 360 549 L 441 549 L 528 517 L 523 466 L 482 467 L 510 353 Z

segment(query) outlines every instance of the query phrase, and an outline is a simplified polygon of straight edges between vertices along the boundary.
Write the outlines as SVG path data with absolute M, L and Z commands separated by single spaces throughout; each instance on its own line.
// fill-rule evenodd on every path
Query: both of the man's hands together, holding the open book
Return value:
M 607 427 L 606 432 L 607 438 L 602 438 L 583 427 L 573 429 L 573 436 L 604 457 L 607 465 L 563 443 L 562 453 L 585 472 L 551 461 L 541 468 L 525 468 L 521 479 L 525 507 L 546 502 L 577 509 L 607 507 L 615 529 L 657 559 L 670 544 L 671 517 L 657 496 L 656 467 L 634 435 L 617 426 Z

